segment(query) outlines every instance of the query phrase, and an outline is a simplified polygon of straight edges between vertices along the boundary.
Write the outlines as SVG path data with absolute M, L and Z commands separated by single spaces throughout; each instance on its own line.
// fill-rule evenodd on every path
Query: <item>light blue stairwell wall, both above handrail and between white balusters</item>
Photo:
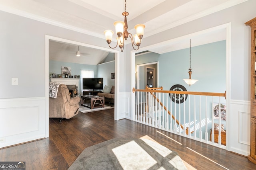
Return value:
M 152 61 L 159 62 L 159 84 L 162 86 L 163 90 L 170 90 L 170 88 L 175 84 L 181 84 L 187 91 L 195 92 L 219 92 L 224 93 L 226 90 L 226 41 L 219 41 L 215 43 L 210 43 L 206 45 L 200 45 L 191 48 L 191 68 L 192 68 L 192 79 L 198 79 L 194 85 L 187 85 L 183 78 L 189 78 L 188 68 L 189 68 L 189 51 L 190 49 L 182 49 L 178 51 L 173 51 L 170 53 L 164 53 L 162 55 L 156 53 L 148 53 L 145 55 L 140 55 L 136 57 L 136 63 L 149 63 Z M 138 59 L 138 61 L 137 61 Z M 193 98 L 191 96 L 192 110 Z M 198 96 L 197 96 L 198 98 Z M 199 99 L 198 99 L 199 100 Z M 205 110 L 206 103 L 204 103 L 205 98 L 202 98 L 202 111 Z M 212 101 L 210 98 L 207 99 L 207 107 L 211 110 Z M 186 103 L 188 99 L 186 100 Z M 214 102 L 218 103 L 218 99 L 214 98 Z M 174 114 L 174 102 L 170 101 L 168 95 L 168 108 L 170 108 L 170 103 L 172 104 L 172 113 Z M 224 98 L 221 100 L 222 104 L 226 101 Z M 166 104 L 165 104 L 166 106 Z M 176 118 L 184 125 L 184 117 L 178 117 L 179 107 L 176 105 Z M 181 113 L 183 113 L 183 106 L 181 107 Z M 188 109 L 188 104 L 186 104 L 186 110 Z M 199 123 L 199 105 L 196 104 L 196 123 Z M 205 113 L 205 112 L 204 112 Z M 202 113 L 202 119 L 204 119 L 204 113 Z M 186 113 L 187 114 L 187 113 Z M 211 121 L 211 112 L 208 112 L 208 119 Z M 194 113 L 191 115 L 191 121 L 194 121 Z M 170 121 L 169 121 L 170 122 Z M 186 115 L 186 122 L 188 122 L 188 115 Z M 216 121 L 217 122 L 217 121 Z M 218 122 L 217 122 L 218 123 Z M 222 121 L 226 129 L 226 121 Z M 204 130 L 205 126 L 202 128 Z M 211 125 L 208 125 L 208 133 L 210 134 Z M 196 134 L 198 137 L 199 133 Z M 202 137 L 204 138 L 204 133 Z M 210 136 L 209 136 L 210 137 Z

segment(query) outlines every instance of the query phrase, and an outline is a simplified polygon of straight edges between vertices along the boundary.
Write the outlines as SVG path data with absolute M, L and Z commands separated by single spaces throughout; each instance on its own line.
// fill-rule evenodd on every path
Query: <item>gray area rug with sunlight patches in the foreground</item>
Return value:
M 178 153 L 149 139 L 114 138 L 88 147 L 68 170 L 186 170 Z

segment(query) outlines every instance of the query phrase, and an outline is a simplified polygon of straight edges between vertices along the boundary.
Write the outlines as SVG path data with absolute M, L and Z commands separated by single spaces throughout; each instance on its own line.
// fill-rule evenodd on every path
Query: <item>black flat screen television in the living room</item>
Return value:
M 103 78 L 83 78 L 83 90 L 103 90 Z

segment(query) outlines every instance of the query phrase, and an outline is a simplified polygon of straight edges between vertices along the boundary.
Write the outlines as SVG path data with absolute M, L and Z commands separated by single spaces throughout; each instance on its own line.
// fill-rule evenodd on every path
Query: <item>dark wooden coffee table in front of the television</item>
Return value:
M 86 100 L 90 101 L 89 103 Z M 105 97 L 84 95 L 81 96 L 81 106 L 88 107 L 90 109 L 97 107 L 105 107 Z

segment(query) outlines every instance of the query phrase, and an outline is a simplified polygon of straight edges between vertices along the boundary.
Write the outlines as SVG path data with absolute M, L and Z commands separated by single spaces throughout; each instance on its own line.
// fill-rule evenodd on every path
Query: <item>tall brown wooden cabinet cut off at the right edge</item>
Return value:
M 245 23 L 251 27 L 251 131 L 250 131 L 250 155 L 248 159 L 256 164 L 256 44 L 255 44 L 255 37 L 256 37 L 256 18 Z

